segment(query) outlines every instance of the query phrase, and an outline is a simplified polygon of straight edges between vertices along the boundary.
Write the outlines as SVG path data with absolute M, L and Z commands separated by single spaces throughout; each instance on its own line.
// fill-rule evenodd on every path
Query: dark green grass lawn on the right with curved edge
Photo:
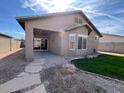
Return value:
M 124 80 L 124 56 L 104 54 L 93 59 L 76 59 L 72 63 L 89 72 Z

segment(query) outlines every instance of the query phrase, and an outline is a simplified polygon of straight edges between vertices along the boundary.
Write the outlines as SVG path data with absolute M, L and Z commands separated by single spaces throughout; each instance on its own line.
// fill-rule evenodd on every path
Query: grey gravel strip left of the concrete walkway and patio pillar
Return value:
M 20 72 L 24 71 L 29 64 L 24 59 L 24 50 L 20 50 L 0 60 L 0 84 L 13 79 Z

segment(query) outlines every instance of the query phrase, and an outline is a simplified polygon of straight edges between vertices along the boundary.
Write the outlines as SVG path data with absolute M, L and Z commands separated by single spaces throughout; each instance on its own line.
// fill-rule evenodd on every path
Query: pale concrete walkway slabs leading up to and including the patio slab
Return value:
M 41 84 L 40 71 L 56 65 L 67 63 L 61 56 L 49 52 L 36 52 L 37 56 L 34 61 L 29 63 L 24 71 L 17 75 L 16 78 L 0 85 L 0 93 L 11 93 L 19 90 L 29 88 L 33 85 Z M 31 88 L 32 89 L 32 88 Z M 40 85 L 25 93 L 47 93 L 44 85 Z

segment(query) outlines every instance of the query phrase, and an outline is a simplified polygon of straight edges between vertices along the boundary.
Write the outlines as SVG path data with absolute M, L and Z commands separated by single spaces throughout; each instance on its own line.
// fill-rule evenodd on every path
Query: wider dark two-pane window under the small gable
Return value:
M 86 36 L 78 35 L 78 49 L 86 49 Z

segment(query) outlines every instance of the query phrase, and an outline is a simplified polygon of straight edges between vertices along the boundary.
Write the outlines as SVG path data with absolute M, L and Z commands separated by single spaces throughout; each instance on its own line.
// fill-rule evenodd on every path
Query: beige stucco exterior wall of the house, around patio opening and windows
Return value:
M 50 41 L 49 41 L 49 50 L 60 55 L 68 55 L 68 54 L 76 54 L 76 55 L 82 55 L 86 54 L 87 50 L 83 51 L 69 51 L 69 40 L 68 40 L 68 34 L 69 33 L 80 33 L 87 35 L 88 31 L 85 27 L 78 28 L 74 31 L 65 32 L 65 29 L 69 26 L 72 26 L 75 24 L 75 17 L 82 19 L 83 23 L 87 23 L 85 19 L 80 14 L 71 14 L 66 16 L 56 16 L 56 17 L 48 17 L 48 18 L 39 18 L 35 20 L 29 20 L 25 22 L 25 54 L 26 59 L 32 60 L 33 58 L 33 30 L 34 28 L 42 29 L 42 30 L 49 30 L 52 32 L 60 32 L 58 34 L 51 34 Z M 91 53 L 93 51 L 93 48 L 96 48 L 96 44 L 94 43 L 94 35 L 95 32 L 92 32 L 90 37 L 87 38 L 88 45 L 90 47 L 87 47 L 88 53 Z M 91 44 L 89 44 L 91 43 Z M 93 47 L 92 47 L 93 46 Z

